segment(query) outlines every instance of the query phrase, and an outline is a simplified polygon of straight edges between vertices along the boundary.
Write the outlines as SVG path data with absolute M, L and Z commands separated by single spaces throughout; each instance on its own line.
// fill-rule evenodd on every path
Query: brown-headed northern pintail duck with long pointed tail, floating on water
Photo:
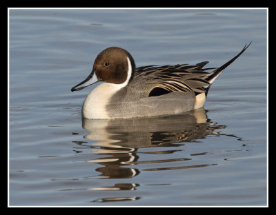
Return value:
M 219 68 L 203 68 L 208 61 L 136 68 L 128 51 L 110 47 L 99 53 L 87 79 L 71 91 L 103 81 L 83 102 L 86 119 L 181 114 L 203 107 L 210 85 L 249 45 Z

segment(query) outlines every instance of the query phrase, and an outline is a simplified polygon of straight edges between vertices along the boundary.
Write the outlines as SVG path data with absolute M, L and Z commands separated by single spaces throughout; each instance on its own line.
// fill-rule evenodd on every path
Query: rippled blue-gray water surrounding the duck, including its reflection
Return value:
M 266 10 L 9 10 L 9 205 L 267 205 Z M 253 43 L 183 116 L 82 121 L 101 50 L 137 66 Z

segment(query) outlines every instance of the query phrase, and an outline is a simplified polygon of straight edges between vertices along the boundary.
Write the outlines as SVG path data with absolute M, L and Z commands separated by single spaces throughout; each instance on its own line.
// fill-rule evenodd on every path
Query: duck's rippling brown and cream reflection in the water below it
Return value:
M 93 141 L 91 145 L 92 154 L 104 156 L 86 161 L 102 165 L 102 167 L 97 168 L 97 172 L 101 172 L 100 178 L 130 178 L 137 176 L 140 173 L 137 166 L 144 163 L 188 161 L 190 158 L 139 161 L 138 154 L 170 154 L 181 151 L 177 148 L 174 150 L 174 148 L 184 145 L 184 142 L 204 139 L 205 136 L 210 134 L 219 135 L 219 130 L 225 127 L 225 125 L 217 125 L 217 123 L 207 119 L 206 111 L 203 108 L 193 110 L 188 114 L 175 116 L 116 120 L 83 119 L 82 123 L 83 128 L 90 132 L 84 138 Z M 97 143 L 94 143 L 95 141 Z M 162 150 L 155 150 L 154 152 L 149 150 L 148 152 L 137 153 L 139 149 L 145 147 L 168 147 L 168 150 L 162 148 Z M 175 170 L 210 165 L 215 164 L 159 167 L 143 170 Z M 136 185 L 120 184 L 118 186 L 119 189 L 132 190 Z M 101 188 L 104 189 L 104 187 Z

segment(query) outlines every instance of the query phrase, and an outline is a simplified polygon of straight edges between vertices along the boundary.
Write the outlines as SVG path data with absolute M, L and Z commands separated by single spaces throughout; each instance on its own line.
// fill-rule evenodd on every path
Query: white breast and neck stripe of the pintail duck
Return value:
M 126 85 L 128 85 L 128 81 L 130 81 L 132 66 L 128 57 L 127 60 L 128 76 L 126 77 L 126 81 L 120 84 L 101 83 L 97 86 L 97 88 L 92 90 L 83 102 L 83 117 L 86 119 L 110 119 L 108 112 L 106 112 L 106 105 L 110 101 L 112 95 L 121 90 L 121 88 L 126 87 Z

